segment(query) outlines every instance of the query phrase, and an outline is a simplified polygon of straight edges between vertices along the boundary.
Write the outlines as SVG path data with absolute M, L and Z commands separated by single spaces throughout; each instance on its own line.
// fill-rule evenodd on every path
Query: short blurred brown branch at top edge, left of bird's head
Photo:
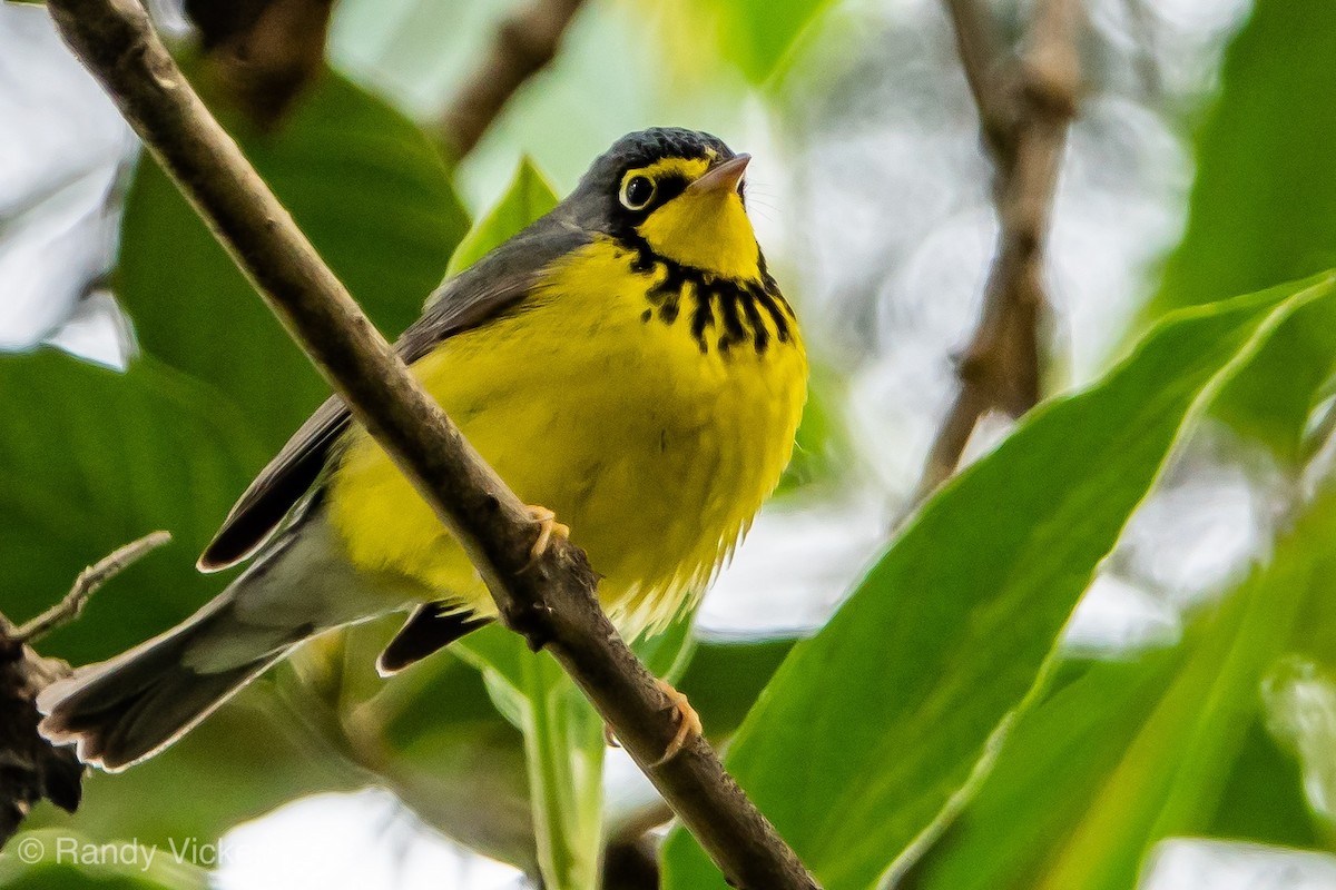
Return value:
M 529 77 L 557 55 L 582 0 L 533 0 L 497 28 L 482 64 L 465 81 L 437 125 L 454 159 L 464 157 Z

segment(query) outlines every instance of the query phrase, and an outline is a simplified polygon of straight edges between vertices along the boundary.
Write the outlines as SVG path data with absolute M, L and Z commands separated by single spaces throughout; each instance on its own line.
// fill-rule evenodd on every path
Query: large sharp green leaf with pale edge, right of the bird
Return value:
M 1165 320 L 950 483 L 794 647 L 728 766 L 828 890 L 872 886 L 961 802 L 1204 392 L 1333 280 Z M 665 863 L 668 887 L 721 886 L 680 831 Z

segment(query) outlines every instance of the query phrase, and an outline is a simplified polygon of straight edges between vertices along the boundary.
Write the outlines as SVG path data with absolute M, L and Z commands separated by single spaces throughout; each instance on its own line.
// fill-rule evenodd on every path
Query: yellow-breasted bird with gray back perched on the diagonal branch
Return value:
M 794 312 L 744 205 L 747 155 L 687 129 L 619 140 L 556 209 L 446 282 L 397 348 L 548 534 L 584 547 L 624 632 L 708 584 L 775 488 L 807 398 Z M 393 673 L 493 619 L 433 511 L 330 398 L 199 560 L 254 560 L 179 627 L 49 687 L 41 729 L 119 770 L 303 640 L 413 608 Z M 699 731 L 685 699 L 680 746 Z M 669 751 L 671 754 L 672 751 Z

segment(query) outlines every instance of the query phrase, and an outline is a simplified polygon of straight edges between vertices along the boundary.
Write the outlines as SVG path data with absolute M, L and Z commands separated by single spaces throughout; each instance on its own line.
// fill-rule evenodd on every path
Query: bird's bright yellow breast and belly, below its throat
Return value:
M 735 287 L 680 272 L 596 240 L 413 368 L 516 494 L 570 526 L 631 635 L 703 592 L 778 483 L 807 398 L 778 291 L 749 306 Z M 362 430 L 327 503 L 359 568 L 494 614 L 462 551 Z

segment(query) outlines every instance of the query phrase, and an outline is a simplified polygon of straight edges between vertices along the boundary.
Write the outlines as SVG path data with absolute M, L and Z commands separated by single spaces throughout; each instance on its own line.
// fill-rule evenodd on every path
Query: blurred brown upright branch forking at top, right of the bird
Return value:
M 1006 64 L 977 0 L 945 0 L 994 167 L 998 247 L 983 310 L 957 375 L 961 388 L 919 478 L 914 502 L 955 471 L 979 418 L 1011 416 L 1039 399 L 1038 326 L 1053 191 L 1079 88 L 1075 0 L 1038 0 L 1023 55 Z

